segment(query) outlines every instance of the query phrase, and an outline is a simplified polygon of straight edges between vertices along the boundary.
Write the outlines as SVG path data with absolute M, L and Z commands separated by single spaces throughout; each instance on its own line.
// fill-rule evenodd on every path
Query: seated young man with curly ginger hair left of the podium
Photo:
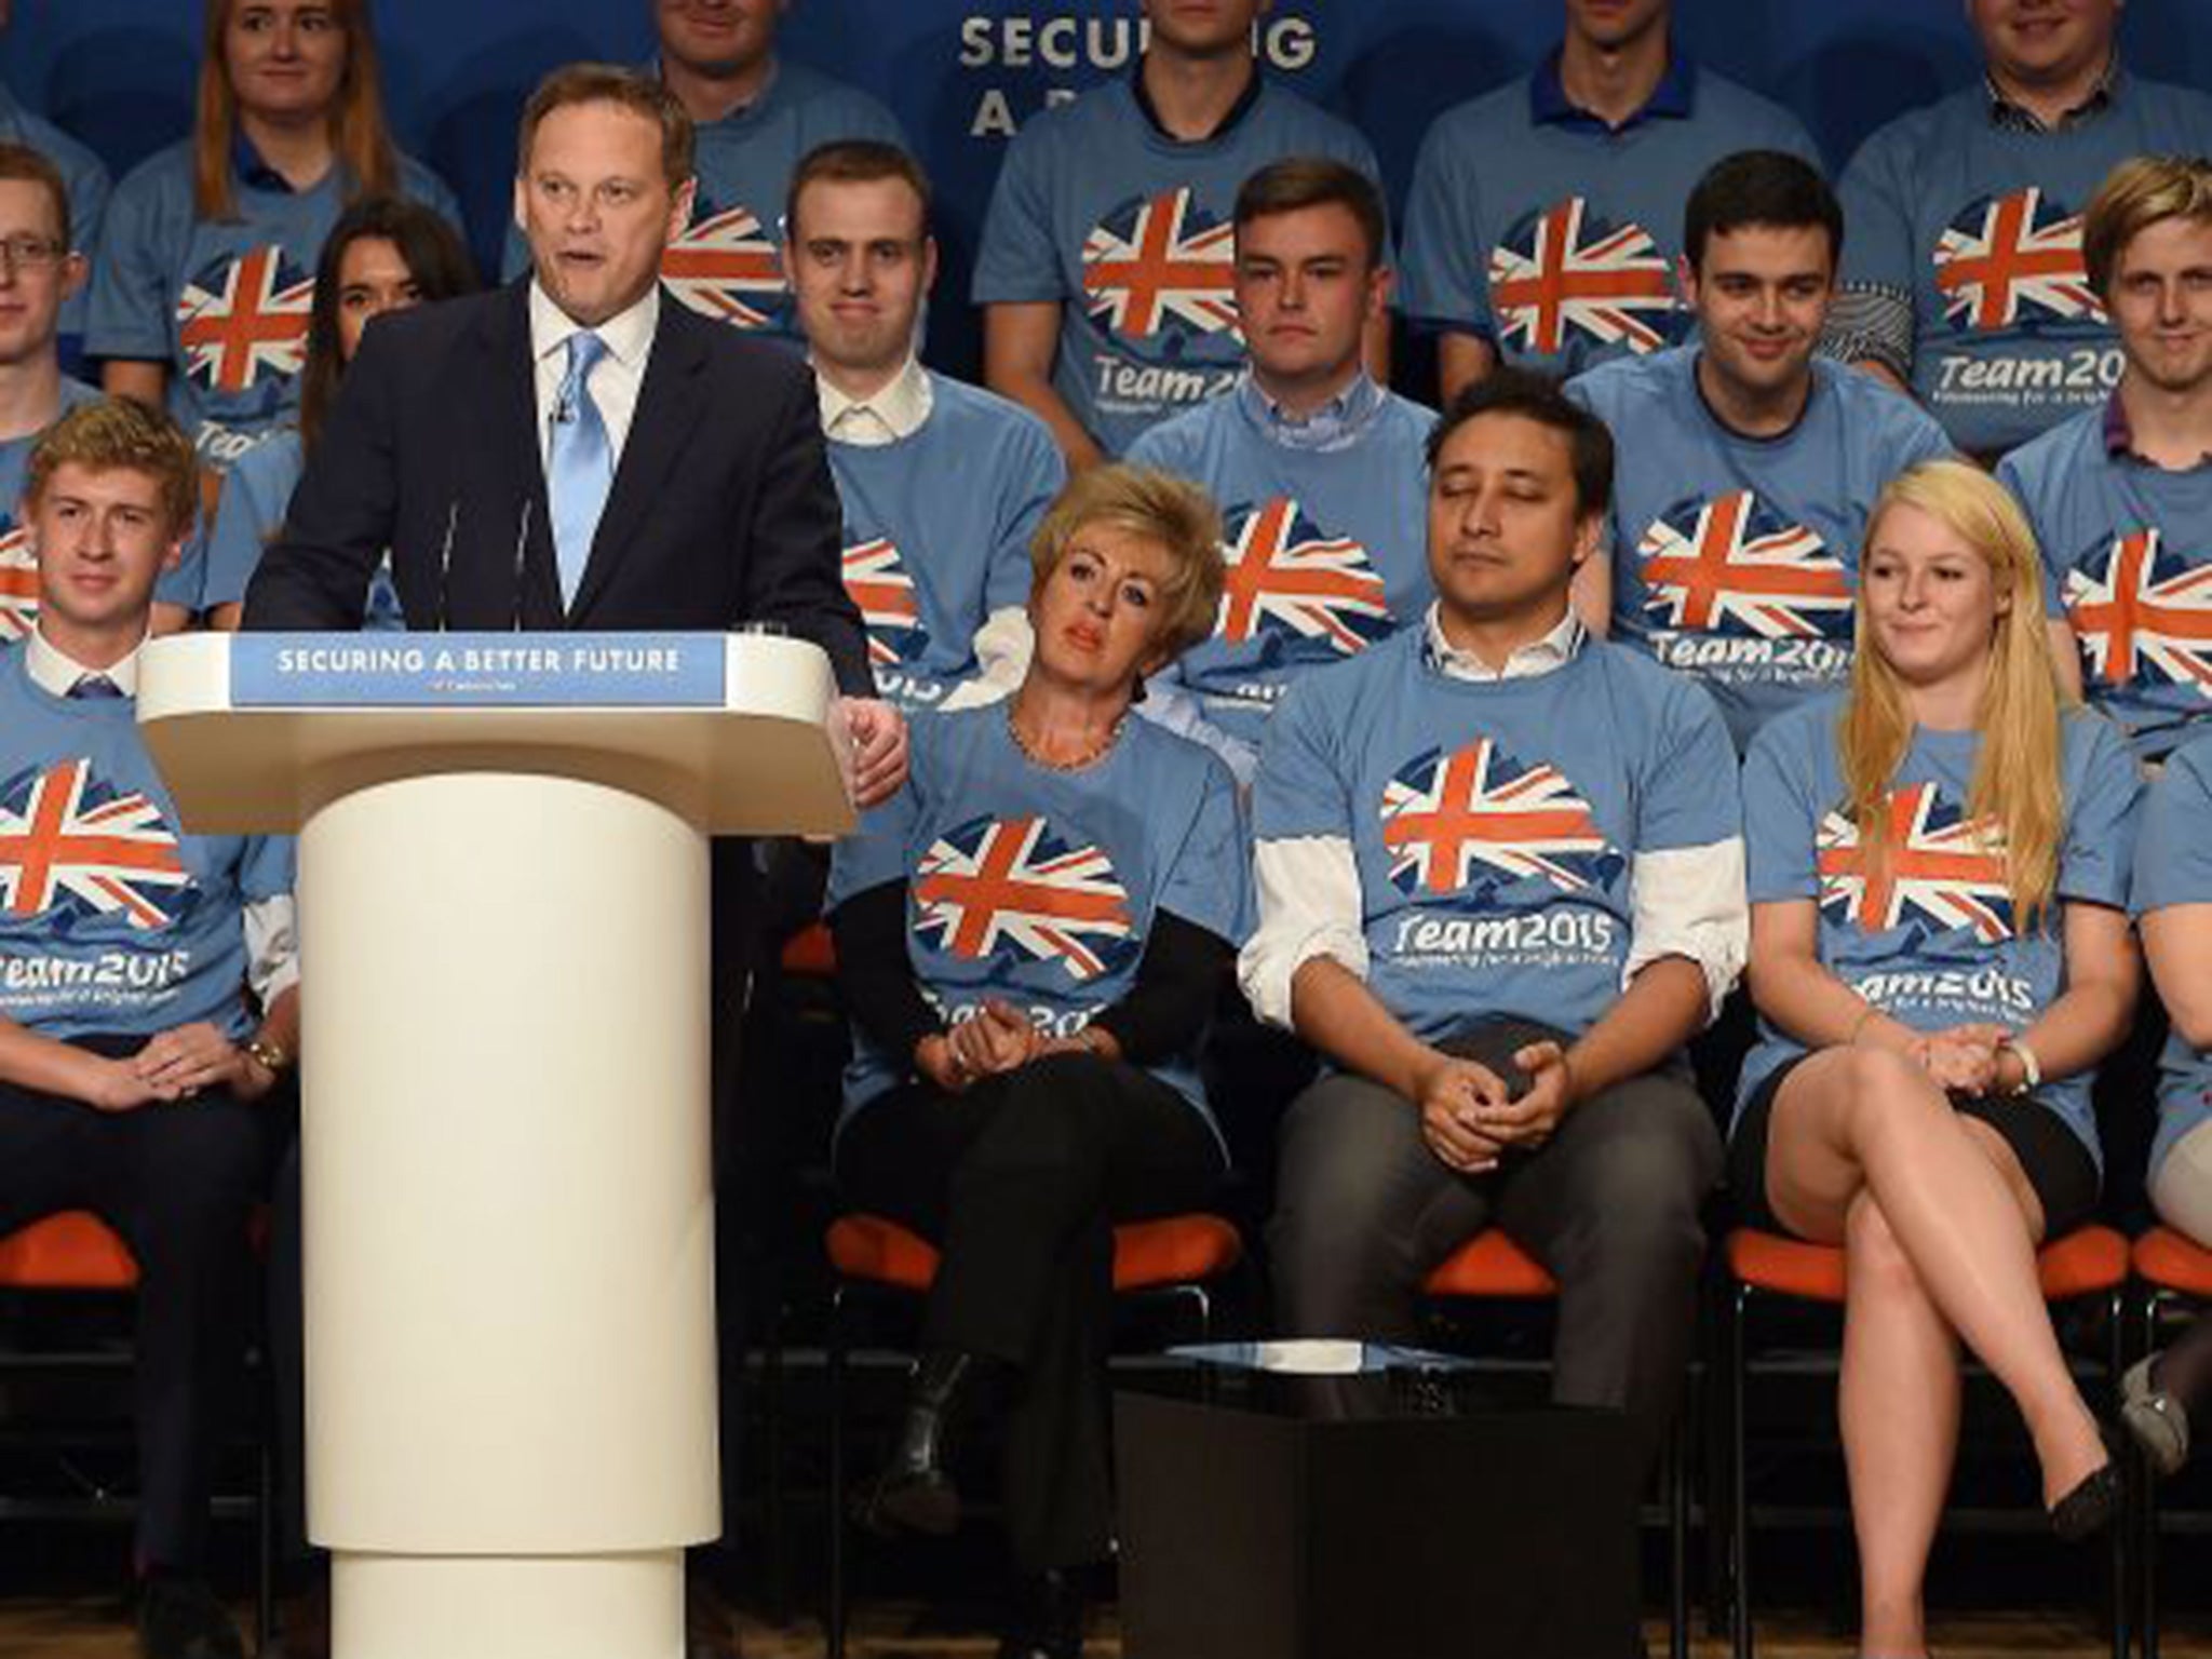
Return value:
M 38 624 L 0 655 L 0 1234 L 93 1210 L 139 1263 L 150 1659 L 243 1652 L 201 1582 L 210 1471 L 241 1389 L 257 1102 L 299 1046 L 290 843 L 179 834 L 137 734 L 153 588 L 197 491 L 168 416 L 62 416 L 22 502 Z

